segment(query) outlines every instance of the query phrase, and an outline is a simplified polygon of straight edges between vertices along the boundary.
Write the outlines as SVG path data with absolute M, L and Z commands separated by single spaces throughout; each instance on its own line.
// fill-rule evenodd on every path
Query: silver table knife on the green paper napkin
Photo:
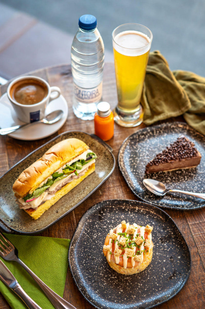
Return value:
M 0 279 L 23 300 L 29 309 L 42 309 L 26 294 L 2 260 L 0 260 Z

